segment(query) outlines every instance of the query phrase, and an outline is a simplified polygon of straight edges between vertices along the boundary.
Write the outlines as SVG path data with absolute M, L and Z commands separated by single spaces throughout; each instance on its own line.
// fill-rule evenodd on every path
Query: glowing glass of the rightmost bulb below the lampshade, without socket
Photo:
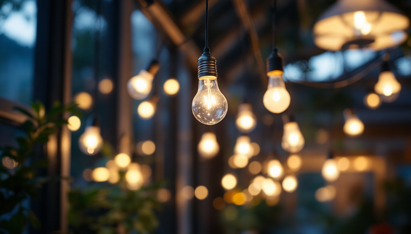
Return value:
M 393 72 L 384 71 L 380 73 L 378 82 L 374 86 L 374 90 L 378 94 L 384 95 L 385 97 L 390 97 L 401 91 L 401 84 L 397 81 L 397 79 L 395 79 Z M 395 99 L 396 97 L 393 98 L 392 101 Z M 391 102 L 391 100 L 388 102 Z

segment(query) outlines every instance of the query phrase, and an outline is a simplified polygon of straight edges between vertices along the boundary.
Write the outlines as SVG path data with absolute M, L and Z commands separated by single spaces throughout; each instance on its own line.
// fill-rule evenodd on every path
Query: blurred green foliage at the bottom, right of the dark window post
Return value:
M 69 193 L 70 231 L 76 234 L 153 233 L 158 226 L 155 209 L 159 185 L 138 191 L 120 186 Z

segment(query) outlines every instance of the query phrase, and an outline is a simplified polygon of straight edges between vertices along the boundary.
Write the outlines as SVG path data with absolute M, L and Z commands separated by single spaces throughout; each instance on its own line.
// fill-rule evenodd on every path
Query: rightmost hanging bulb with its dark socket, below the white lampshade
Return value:
M 394 102 L 399 96 L 401 84 L 395 79 L 394 73 L 390 70 L 387 61 L 381 65 L 381 73 L 374 89 L 376 93 L 381 95 L 384 102 Z

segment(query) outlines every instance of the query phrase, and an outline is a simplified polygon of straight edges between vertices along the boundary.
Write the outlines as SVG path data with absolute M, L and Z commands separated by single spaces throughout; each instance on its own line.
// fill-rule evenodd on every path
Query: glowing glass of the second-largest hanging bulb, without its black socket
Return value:
M 281 75 L 271 75 L 268 79 L 268 89 L 264 94 L 264 107 L 272 113 L 281 113 L 290 105 L 290 94 L 285 89 L 284 79 Z

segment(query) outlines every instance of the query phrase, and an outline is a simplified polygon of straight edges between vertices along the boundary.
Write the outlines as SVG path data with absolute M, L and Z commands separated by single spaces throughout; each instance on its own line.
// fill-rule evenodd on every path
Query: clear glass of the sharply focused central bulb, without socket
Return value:
M 227 114 L 228 104 L 218 89 L 217 78 L 208 76 L 199 80 L 199 90 L 192 102 L 192 111 L 203 124 L 213 125 Z

